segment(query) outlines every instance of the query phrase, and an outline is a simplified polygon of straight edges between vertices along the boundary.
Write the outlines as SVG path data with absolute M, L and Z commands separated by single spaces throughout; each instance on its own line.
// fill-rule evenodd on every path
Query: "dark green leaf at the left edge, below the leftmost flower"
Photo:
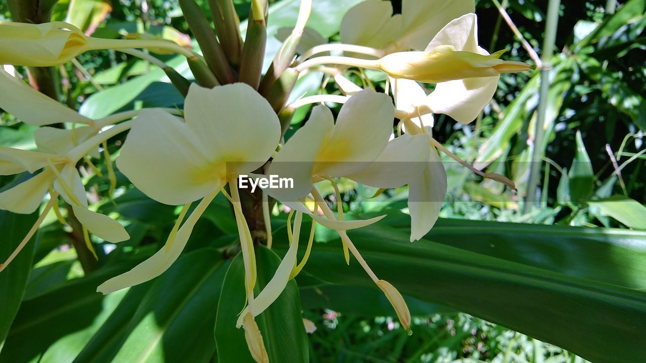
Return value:
M 3 240 L 0 243 L 1 262 L 5 262 L 6 258 L 14 252 L 36 222 L 36 218 L 37 213 L 16 214 L 0 211 L 0 231 L 3 231 Z M 32 237 L 23 251 L 0 273 L 0 351 L 25 294 L 27 278 L 34 258 L 34 240 L 35 238 Z

